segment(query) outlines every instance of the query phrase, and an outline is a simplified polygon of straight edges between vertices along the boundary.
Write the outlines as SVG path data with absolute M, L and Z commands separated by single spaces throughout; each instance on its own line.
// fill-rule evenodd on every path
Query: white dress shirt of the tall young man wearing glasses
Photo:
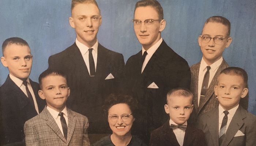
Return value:
M 155 43 L 155 45 L 153 45 L 152 47 L 150 47 L 148 50 L 145 50 L 142 46 L 142 55 L 145 51 L 147 51 L 147 55 L 145 57 L 145 60 L 143 62 L 142 65 L 142 69 L 141 69 L 141 73 L 143 72 L 143 70 L 145 69 L 148 61 L 150 60 L 150 58 L 152 57 L 152 55 L 155 53 L 155 51 L 157 50 L 157 48 L 161 45 L 163 39 L 161 38 L 157 43 Z

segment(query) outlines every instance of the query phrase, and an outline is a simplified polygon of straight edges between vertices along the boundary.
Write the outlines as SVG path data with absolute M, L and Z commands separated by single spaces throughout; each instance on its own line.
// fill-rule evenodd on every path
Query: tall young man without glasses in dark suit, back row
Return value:
M 72 91 L 67 106 L 88 117 L 88 133 L 108 133 L 102 105 L 108 94 L 117 92 L 124 58 L 98 43 L 97 33 L 102 18 L 95 0 L 72 0 L 71 14 L 69 23 L 75 28 L 76 41 L 49 57 L 49 69 L 67 74 Z

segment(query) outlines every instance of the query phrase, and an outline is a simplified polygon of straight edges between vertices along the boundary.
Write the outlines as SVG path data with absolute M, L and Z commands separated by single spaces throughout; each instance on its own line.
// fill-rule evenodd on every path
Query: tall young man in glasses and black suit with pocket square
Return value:
M 161 38 L 166 21 L 158 1 L 138 1 L 133 23 L 142 50 L 132 55 L 125 65 L 124 88 L 140 104 L 138 125 L 133 134 L 148 143 L 150 132 L 167 120 L 163 109 L 166 93 L 176 87 L 189 88 L 191 74 L 187 61 Z

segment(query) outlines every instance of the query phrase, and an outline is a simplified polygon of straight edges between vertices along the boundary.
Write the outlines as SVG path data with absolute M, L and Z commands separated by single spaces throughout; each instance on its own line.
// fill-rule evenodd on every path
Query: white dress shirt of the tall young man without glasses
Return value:
M 83 56 L 83 60 L 86 64 L 87 70 L 90 74 L 90 64 L 89 64 L 89 50 L 90 48 L 93 49 L 92 54 L 93 54 L 93 60 L 94 60 L 94 65 L 95 65 L 95 72 L 97 69 L 97 56 L 98 56 L 98 40 L 96 41 L 96 43 L 92 46 L 92 47 L 87 47 L 86 45 L 83 45 L 82 43 L 80 43 L 77 38 L 76 38 L 76 46 L 78 46 L 78 49 L 80 50 L 82 56 Z

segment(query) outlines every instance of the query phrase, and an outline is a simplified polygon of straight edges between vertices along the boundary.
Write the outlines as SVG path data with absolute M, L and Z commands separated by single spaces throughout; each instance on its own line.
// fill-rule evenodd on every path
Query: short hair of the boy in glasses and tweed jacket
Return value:
M 206 20 L 204 25 L 209 22 L 221 23 L 221 24 L 225 25 L 227 27 L 227 35 L 228 36 L 230 35 L 231 24 L 230 24 L 229 20 L 227 20 L 227 18 L 222 17 L 222 16 L 212 16 Z

